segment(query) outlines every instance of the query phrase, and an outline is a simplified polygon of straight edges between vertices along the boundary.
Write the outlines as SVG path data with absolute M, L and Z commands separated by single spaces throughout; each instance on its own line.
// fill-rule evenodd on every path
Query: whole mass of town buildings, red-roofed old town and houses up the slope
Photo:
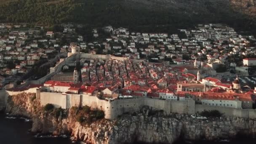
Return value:
M 252 87 L 245 90 L 242 78 L 224 78 L 235 77 L 232 73 L 248 75 L 248 67 L 256 65 L 255 38 L 237 34 L 223 24 L 199 24 L 195 29 L 180 29 L 179 34 L 130 32 L 107 26 L 92 29 L 90 39 L 79 35 L 78 26 L 72 24 L 63 24 L 63 29 L 56 32 L 13 30 L 22 25 L 1 27 L 1 72 L 5 77 L 26 74 L 34 69 L 36 61 L 53 61 L 57 53 L 123 57 L 79 59 L 74 77 L 70 75 L 74 67 L 65 65 L 59 77 L 55 75 L 44 84 L 45 91 L 89 95 L 102 92 L 104 98 L 195 99 L 202 104 L 217 99 L 236 101 L 226 104 L 229 107 L 240 107 L 237 101 L 254 101 L 255 91 Z M 2 79 L 7 80 L 5 77 Z

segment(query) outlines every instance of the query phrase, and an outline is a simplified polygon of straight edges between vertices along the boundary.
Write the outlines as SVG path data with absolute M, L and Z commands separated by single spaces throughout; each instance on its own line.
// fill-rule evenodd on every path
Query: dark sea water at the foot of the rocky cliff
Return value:
M 29 129 L 32 122 L 24 119 L 6 118 L 0 113 L 0 144 L 74 144 L 67 137 L 36 138 Z M 134 142 L 133 144 L 144 144 Z M 239 138 L 233 141 L 177 141 L 175 144 L 256 144 L 256 139 Z

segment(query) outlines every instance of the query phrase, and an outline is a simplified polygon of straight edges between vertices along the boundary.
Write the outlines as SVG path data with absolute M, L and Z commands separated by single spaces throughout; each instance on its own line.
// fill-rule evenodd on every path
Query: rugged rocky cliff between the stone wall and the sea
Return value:
M 237 133 L 256 137 L 256 120 L 239 117 L 197 119 L 189 115 L 167 115 L 149 107 L 120 116 L 117 120 L 92 119 L 90 123 L 81 123 L 77 120 L 79 112 L 75 108 L 44 111 L 34 93 L 9 97 L 6 112 L 30 117 L 33 132 L 69 134 L 74 140 L 90 144 L 122 144 L 134 140 L 171 144 L 180 137 L 216 140 L 230 139 Z

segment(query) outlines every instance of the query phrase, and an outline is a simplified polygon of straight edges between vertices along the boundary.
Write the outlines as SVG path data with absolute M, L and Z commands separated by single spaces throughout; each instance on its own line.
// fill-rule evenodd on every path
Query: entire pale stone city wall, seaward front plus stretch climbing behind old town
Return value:
M 75 51 L 75 49 L 74 49 Z M 118 59 L 124 60 L 123 57 L 115 57 L 110 55 L 95 55 L 90 53 L 72 53 L 65 59 L 60 59 L 60 62 L 55 67 L 51 67 L 50 73 L 39 80 L 27 81 L 27 85 L 43 84 L 45 81 L 50 80 L 53 75 L 61 72 L 61 68 L 64 65 L 74 65 L 74 61 L 80 59 Z M 135 60 L 141 61 L 141 60 Z M 101 109 L 105 112 L 106 119 L 115 119 L 118 115 L 122 115 L 125 112 L 139 111 L 144 105 L 147 105 L 153 109 L 162 109 L 167 113 L 179 113 L 179 114 L 195 114 L 196 112 L 202 112 L 203 110 L 219 110 L 221 113 L 227 116 L 256 118 L 255 109 L 235 109 L 229 107 L 211 107 L 202 104 L 195 104 L 193 99 L 185 99 L 184 101 L 170 101 L 162 99 L 150 99 L 150 98 L 133 98 L 133 99 L 117 99 L 114 101 L 101 100 L 96 96 L 90 96 L 88 94 L 70 94 L 70 93 L 53 93 L 44 92 L 39 86 L 29 88 L 24 91 L 0 91 L 0 109 L 7 104 L 8 96 L 18 93 L 36 93 L 36 98 L 40 99 L 41 105 L 53 104 L 55 107 L 61 107 L 63 109 L 69 109 L 71 107 L 89 106 L 92 109 Z

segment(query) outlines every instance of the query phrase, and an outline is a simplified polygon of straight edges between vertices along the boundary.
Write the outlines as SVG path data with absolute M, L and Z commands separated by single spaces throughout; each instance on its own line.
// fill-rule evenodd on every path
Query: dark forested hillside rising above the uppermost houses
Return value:
M 254 5 L 254 0 L 0 0 L 0 22 L 181 28 L 221 22 L 250 29 Z

